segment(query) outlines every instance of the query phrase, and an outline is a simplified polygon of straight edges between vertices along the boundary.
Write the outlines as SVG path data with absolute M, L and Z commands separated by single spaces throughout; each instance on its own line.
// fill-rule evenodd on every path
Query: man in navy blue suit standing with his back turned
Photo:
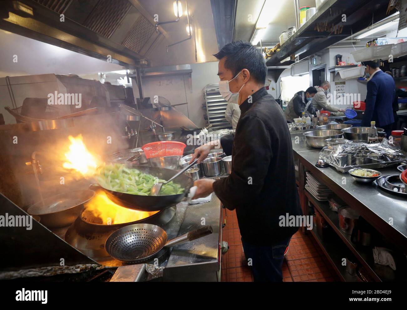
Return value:
M 363 61 L 368 80 L 366 109 L 363 115 L 362 127 L 370 127 L 375 121 L 377 128 L 383 128 L 389 138 L 394 123 L 393 100 L 395 93 L 394 80 L 379 68 L 379 61 Z

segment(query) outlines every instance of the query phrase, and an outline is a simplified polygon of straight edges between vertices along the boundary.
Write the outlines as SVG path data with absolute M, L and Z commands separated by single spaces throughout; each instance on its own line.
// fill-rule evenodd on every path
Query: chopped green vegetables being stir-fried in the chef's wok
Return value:
M 137 169 L 126 168 L 123 164 L 110 164 L 100 168 L 96 177 L 99 184 L 107 190 L 122 192 L 133 195 L 149 196 L 151 187 L 158 182 L 165 180 L 158 179 L 153 175 L 148 175 Z M 163 184 L 161 195 L 182 194 L 184 188 L 172 181 Z

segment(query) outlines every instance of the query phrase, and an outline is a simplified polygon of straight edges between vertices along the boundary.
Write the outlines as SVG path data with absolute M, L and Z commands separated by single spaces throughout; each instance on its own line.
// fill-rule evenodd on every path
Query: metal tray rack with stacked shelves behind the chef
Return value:
M 205 86 L 205 106 L 206 119 L 208 125 L 212 124 L 212 129 L 232 128 L 232 125 L 225 118 L 225 111 L 228 102 L 219 93 L 219 84 L 208 84 Z

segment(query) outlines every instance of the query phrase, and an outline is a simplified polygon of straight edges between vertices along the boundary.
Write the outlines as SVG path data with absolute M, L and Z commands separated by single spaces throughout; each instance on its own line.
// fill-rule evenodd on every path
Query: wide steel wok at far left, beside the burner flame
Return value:
M 51 196 L 28 208 L 27 213 L 38 215 L 48 228 L 70 225 L 81 213 L 83 205 L 93 198 L 93 190 L 75 190 Z

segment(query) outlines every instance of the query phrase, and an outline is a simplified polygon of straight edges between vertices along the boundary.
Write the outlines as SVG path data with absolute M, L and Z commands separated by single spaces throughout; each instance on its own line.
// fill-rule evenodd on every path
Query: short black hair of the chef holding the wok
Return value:
M 267 76 L 267 66 L 260 50 L 247 41 L 236 41 L 223 46 L 223 48 L 213 55 L 217 59 L 226 57 L 225 68 L 233 72 L 233 77 L 241 70 L 247 69 L 254 81 L 265 84 Z

